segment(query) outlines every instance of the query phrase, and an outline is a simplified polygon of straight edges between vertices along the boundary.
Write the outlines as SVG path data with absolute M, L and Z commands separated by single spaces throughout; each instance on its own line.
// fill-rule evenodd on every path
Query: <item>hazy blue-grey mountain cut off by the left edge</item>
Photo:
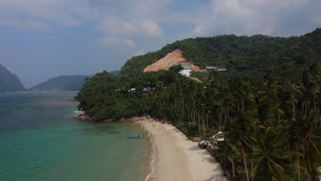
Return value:
M 25 90 L 21 80 L 0 64 L 0 93 Z

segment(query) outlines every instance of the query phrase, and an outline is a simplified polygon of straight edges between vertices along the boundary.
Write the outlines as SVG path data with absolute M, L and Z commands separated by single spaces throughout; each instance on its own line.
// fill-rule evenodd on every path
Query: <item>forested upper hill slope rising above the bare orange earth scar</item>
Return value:
M 226 66 L 228 76 L 263 77 L 266 73 L 273 73 L 285 81 L 297 80 L 302 71 L 321 60 L 321 29 L 289 38 L 221 35 L 178 40 L 158 51 L 131 58 L 123 65 L 121 73 L 141 73 L 145 67 L 174 49 L 182 50 L 187 60 L 200 67 Z

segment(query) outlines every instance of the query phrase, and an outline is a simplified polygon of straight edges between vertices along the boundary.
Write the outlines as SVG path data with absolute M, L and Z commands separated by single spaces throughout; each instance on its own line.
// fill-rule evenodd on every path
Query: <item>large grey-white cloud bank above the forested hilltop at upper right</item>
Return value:
M 320 26 L 320 7 L 318 0 L 213 0 L 191 16 L 189 36 L 298 35 Z

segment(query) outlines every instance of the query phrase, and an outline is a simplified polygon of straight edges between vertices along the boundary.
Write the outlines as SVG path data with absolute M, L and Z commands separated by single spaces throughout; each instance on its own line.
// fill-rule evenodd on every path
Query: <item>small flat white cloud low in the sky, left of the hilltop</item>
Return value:
M 118 38 L 104 36 L 98 39 L 100 45 L 112 46 L 112 47 L 136 47 L 134 41 L 128 38 Z

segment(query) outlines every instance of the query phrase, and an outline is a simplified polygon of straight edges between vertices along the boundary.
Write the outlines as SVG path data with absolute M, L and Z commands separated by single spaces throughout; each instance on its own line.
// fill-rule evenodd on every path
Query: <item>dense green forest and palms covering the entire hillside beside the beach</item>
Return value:
M 317 29 L 292 38 L 182 40 L 132 58 L 120 75 L 97 73 L 75 99 L 97 120 L 150 114 L 187 136 L 222 131 L 225 141 L 214 154 L 232 180 L 314 180 L 321 161 L 320 37 Z M 141 73 L 176 48 L 199 65 L 229 71 L 193 73 L 202 82 L 176 73 L 179 67 Z

